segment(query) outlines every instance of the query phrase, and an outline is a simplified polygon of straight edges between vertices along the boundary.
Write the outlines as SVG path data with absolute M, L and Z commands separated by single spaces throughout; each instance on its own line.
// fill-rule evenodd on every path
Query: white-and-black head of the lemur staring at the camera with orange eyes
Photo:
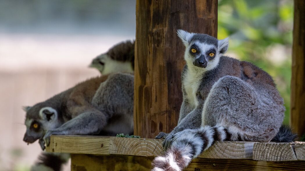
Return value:
M 203 71 L 211 70 L 218 65 L 219 58 L 228 50 L 228 38 L 218 40 L 207 34 L 177 31 L 178 37 L 185 45 L 185 61 Z

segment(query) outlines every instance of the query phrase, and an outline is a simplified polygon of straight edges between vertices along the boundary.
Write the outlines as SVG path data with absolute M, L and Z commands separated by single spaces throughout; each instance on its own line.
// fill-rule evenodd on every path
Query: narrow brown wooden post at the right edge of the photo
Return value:
M 294 1 L 290 125 L 305 134 L 305 1 Z

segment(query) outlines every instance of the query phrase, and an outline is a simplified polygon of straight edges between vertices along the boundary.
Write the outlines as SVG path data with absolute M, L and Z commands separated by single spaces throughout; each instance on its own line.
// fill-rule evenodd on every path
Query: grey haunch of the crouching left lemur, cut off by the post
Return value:
M 125 73 L 109 75 L 92 99 L 92 105 L 109 114 L 103 131 L 133 134 L 134 76 Z

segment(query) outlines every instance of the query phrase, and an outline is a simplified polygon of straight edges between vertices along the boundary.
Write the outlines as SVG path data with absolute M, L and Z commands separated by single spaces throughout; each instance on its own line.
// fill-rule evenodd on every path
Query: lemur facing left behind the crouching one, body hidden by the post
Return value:
M 94 58 L 89 65 L 101 74 L 113 72 L 133 73 L 135 65 L 135 42 L 127 40 L 111 47 L 108 52 Z

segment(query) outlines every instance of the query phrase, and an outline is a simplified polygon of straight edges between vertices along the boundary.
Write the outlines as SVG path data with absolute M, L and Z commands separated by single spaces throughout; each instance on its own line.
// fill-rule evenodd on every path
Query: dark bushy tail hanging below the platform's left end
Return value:
M 31 167 L 31 171 L 60 171 L 62 165 L 70 159 L 67 153 L 47 153 L 42 152 L 38 156 L 38 161 Z

